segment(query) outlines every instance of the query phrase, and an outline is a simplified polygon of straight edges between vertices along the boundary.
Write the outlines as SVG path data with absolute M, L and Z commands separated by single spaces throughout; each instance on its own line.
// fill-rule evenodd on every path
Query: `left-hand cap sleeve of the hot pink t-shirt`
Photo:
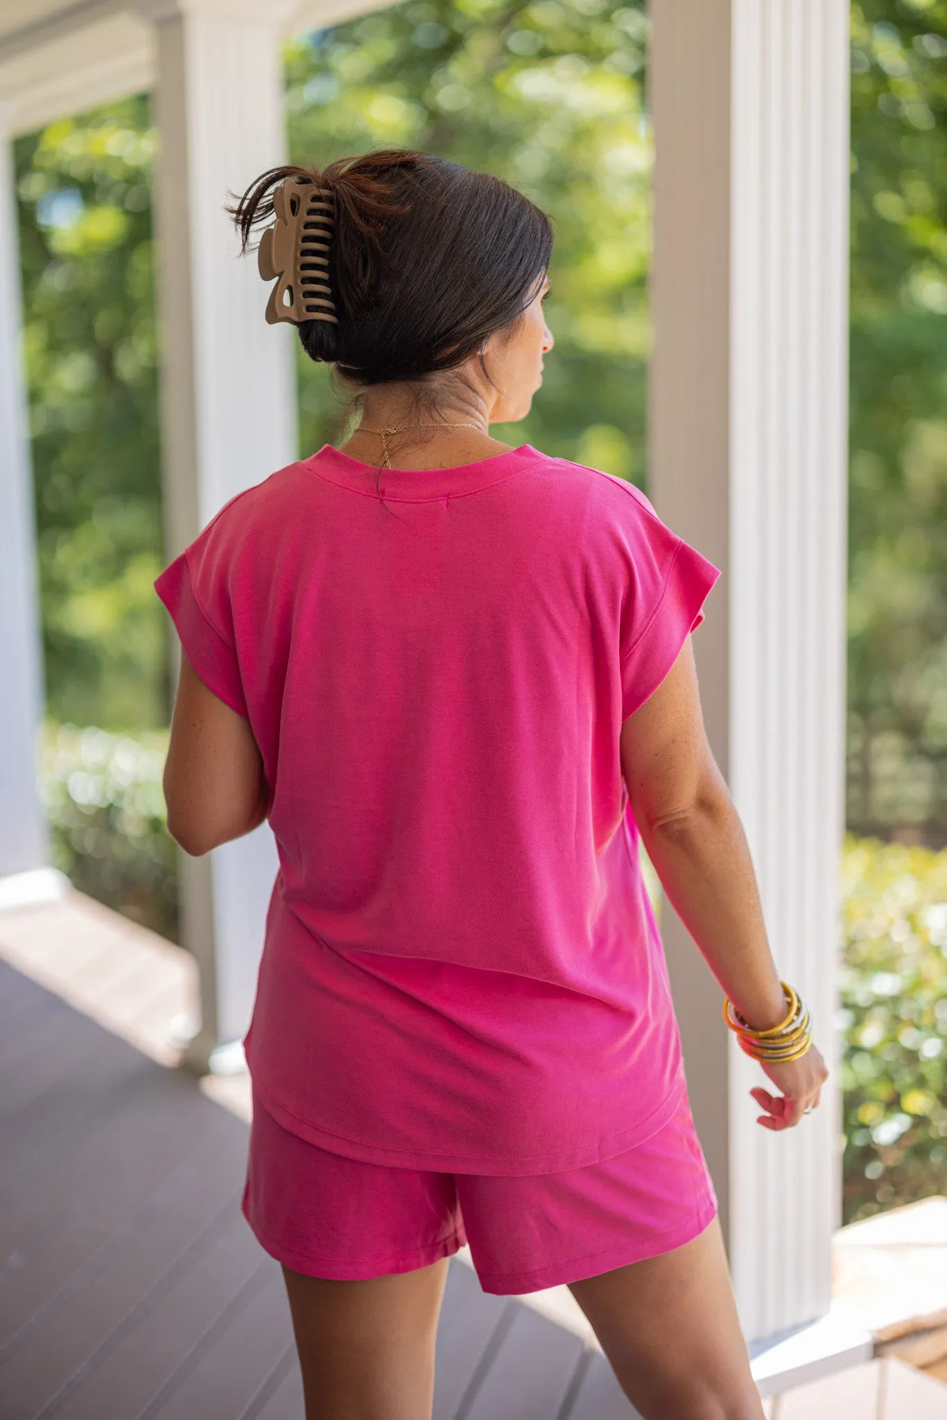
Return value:
M 170 613 L 196 674 L 246 720 L 248 711 L 234 645 L 227 574 L 227 537 L 217 514 L 165 568 L 155 591 Z

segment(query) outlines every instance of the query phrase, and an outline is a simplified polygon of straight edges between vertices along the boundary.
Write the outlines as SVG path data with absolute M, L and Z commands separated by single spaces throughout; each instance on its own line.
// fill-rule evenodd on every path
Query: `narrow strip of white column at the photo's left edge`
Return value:
M 0 878 L 47 862 L 35 770 L 43 652 L 10 128 L 11 112 L 0 101 Z

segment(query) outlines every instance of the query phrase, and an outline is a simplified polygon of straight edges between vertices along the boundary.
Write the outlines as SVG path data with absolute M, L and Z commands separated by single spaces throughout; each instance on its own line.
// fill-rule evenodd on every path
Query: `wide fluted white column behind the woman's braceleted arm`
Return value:
M 724 572 L 694 638 L 781 974 L 833 1055 L 843 832 L 848 3 L 652 0 L 650 490 Z M 717 599 L 718 598 L 718 599 Z M 839 1076 L 787 1135 L 667 903 L 691 1100 L 750 1338 L 829 1304 Z M 829 1061 L 832 1065 L 832 1061 Z

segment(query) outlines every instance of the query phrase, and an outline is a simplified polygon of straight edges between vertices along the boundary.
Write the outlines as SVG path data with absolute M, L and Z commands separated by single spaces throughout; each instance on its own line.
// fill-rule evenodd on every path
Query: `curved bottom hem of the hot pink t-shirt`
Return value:
M 362 1139 L 352 1139 L 348 1135 L 338 1135 L 310 1119 L 302 1119 L 294 1110 L 287 1109 L 275 1099 L 266 1085 L 253 1075 L 253 1089 L 264 1108 L 290 1133 L 305 1139 L 308 1143 L 325 1149 L 328 1153 L 342 1154 L 348 1159 L 358 1159 L 362 1163 L 375 1163 L 395 1169 L 420 1169 L 432 1173 L 471 1173 L 488 1176 L 522 1177 L 542 1173 L 565 1173 L 569 1169 L 585 1169 L 605 1159 L 626 1153 L 643 1145 L 652 1135 L 669 1123 L 677 1109 L 687 1083 L 683 1069 L 672 1085 L 664 1099 L 645 1119 L 632 1129 L 625 1129 L 618 1135 L 599 1139 L 595 1145 L 582 1145 L 558 1152 L 537 1154 L 464 1154 L 449 1153 L 430 1149 L 396 1149 L 381 1145 L 369 1145 Z

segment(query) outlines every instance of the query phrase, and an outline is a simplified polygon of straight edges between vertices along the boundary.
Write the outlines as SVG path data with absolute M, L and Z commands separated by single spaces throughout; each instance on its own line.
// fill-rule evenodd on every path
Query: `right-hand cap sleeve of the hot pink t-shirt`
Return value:
M 703 604 L 720 577 L 718 567 L 656 514 L 645 520 L 632 565 L 633 595 L 622 636 L 622 720 L 657 690 L 684 639 L 704 619 Z

